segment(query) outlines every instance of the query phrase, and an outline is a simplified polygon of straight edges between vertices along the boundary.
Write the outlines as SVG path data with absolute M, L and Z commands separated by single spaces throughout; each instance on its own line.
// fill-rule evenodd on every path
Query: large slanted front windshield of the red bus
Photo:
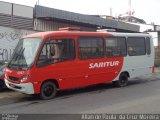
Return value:
M 34 62 L 40 47 L 41 38 L 24 38 L 18 42 L 8 67 L 17 70 L 27 70 Z

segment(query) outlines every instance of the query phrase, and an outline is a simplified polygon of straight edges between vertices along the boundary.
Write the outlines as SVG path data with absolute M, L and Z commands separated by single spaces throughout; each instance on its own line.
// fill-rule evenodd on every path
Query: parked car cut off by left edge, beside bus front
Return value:
M 4 82 L 4 69 L 7 65 L 7 62 L 0 62 L 0 90 L 6 88 L 5 82 Z

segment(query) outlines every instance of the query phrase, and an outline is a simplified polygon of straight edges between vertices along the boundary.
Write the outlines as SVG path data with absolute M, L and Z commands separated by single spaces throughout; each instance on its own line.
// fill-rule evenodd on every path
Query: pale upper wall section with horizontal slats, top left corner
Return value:
M 0 1 L 0 26 L 33 30 L 33 8 Z

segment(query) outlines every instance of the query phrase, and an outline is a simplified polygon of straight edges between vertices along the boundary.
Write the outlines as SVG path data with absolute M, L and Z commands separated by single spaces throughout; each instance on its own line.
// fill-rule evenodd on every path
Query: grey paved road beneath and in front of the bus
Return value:
M 160 68 L 124 88 L 102 84 L 62 91 L 52 100 L 12 91 L 0 93 L 0 113 L 160 113 Z

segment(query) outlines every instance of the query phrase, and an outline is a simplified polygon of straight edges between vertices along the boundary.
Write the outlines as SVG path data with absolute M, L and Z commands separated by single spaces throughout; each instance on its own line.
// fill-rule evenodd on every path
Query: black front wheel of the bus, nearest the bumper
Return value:
M 46 81 L 42 84 L 40 90 L 40 98 L 43 100 L 49 100 L 56 96 L 57 86 L 52 81 Z

